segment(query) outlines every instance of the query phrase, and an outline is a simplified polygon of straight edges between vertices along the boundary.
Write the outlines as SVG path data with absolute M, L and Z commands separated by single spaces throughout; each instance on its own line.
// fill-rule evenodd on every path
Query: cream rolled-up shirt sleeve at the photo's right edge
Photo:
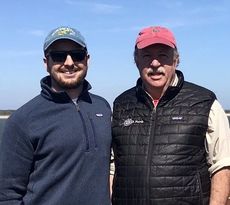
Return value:
M 227 115 L 215 100 L 208 120 L 208 130 L 206 133 L 207 161 L 211 165 L 210 175 L 223 167 L 230 166 L 230 128 Z

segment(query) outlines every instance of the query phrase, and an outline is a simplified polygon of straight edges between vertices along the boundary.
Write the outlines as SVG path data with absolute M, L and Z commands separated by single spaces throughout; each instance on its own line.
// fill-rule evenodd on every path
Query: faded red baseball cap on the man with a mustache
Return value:
M 138 49 L 142 49 L 156 43 L 176 48 L 176 40 L 173 33 L 169 29 L 161 26 L 151 26 L 142 29 L 136 40 L 136 46 Z

